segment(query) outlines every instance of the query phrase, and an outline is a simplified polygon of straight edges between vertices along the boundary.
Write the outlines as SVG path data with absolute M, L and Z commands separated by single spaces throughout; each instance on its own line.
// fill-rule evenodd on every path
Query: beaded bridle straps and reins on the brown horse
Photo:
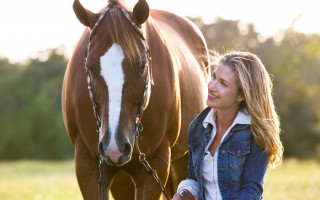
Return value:
M 142 30 L 134 23 L 134 21 L 131 19 L 130 15 L 129 15 L 129 13 L 127 13 L 123 8 L 119 7 L 119 9 L 120 9 L 121 13 L 126 17 L 126 19 L 130 22 L 130 24 L 134 27 L 136 32 L 139 34 L 140 38 L 143 39 L 143 41 L 145 43 L 145 46 L 147 48 L 146 53 L 147 53 L 147 56 L 148 56 L 148 60 L 151 61 L 151 53 L 150 53 L 149 48 L 147 46 L 146 39 L 143 36 Z M 99 26 L 100 22 L 103 20 L 105 15 L 107 14 L 108 10 L 109 10 L 109 7 L 107 7 L 105 9 L 105 11 L 99 16 L 98 20 L 96 21 L 95 25 L 93 26 L 92 30 L 90 31 L 89 43 L 88 43 L 88 47 L 87 47 L 86 52 L 85 52 L 85 61 L 87 60 L 87 53 L 88 53 L 89 44 L 90 44 L 93 36 L 96 33 L 97 27 Z M 145 76 L 145 88 L 144 88 L 144 92 L 143 92 L 143 99 L 142 99 L 142 102 L 140 103 L 140 106 L 139 106 L 138 111 L 137 111 L 137 116 L 135 118 L 135 131 L 136 131 L 135 146 L 136 146 L 136 148 L 138 150 L 138 153 L 139 153 L 139 161 L 140 161 L 140 163 L 143 165 L 143 167 L 147 171 L 147 174 L 151 175 L 155 179 L 156 183 L 161 188 L 161 191 L 165 195 L 166 199 L 169 200 L 170 198 L 169 198 L 169 196 L 168 196 L 168 194 L 167 194 L 167 192 L 166 192 L 166 190 L 164 188 L 164 185 L 163 185 L 162 181 L 158 177 L 156 170 L 154 170 L 150 166 L 149 162 L 145 159 L 145 154 L 140 151 L 139 142 L 138 142 L 138 140 L 141 139 L 141 136 L 140 136 L 139 133 L 143 130 L 143 126 L 142 126 L 142 123 L 141 123 L 143 110 L 145 110 L 145 108 L 147 107 L 147 104 L 148 104 L 148 100 L 147 99 L 148 99 L 148 95 L 150 95 L 150 93 L 148 94 L 148 90 L 151 89 L 151 88 L 149 88 L 150 87 L 150 81 L 153 83 L 152 72 L 150 73 L 150 71 L 151 71 L 150 68 L 151 67 L 149 67 L 149 65 L 148 65 L 148 72 L 147 72 L 147 74 Z M 94 112 L 94 116 L 96 118 L 96 132 L 99 134 L 100 129 L 101 129 L 100 112 L 99 112 L 99 108 L 98 108 L 98 106 L 96 104 L 94 95 L 93 95 L 93 89 L 92 89 L 92 84 L 91 84 L 92 74 L 91 74 L 91 71 L 87 67 L 86 67 L 86 73 L 87 73 L 87 86 L 88 86 L 88 91 L 89 91 L 89 97 L 90 97 L 90 100 L 92 102 L 93 112 Z M 151 77 L 151 80 L 150 80 L 150 77 Z M 99 171 L 100 171 L 100 178 L 98 180 L 98 184 L 99 184 L 99 191 L 100 191 L 100 199 L 101 200 L 105 200 L 106 199 L 105 188 L 106 188 L 107 180 L 106 180 L 105 162 L 104 162 L 104 159 L 103 159 L 103 157 L 101 155 L 100 155 L 100 158 L 99 158 Z

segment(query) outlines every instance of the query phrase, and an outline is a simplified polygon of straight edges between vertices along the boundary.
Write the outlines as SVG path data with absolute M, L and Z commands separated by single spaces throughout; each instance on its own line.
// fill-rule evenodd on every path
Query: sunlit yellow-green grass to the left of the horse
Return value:
M 80 200 L 73 161 L 0 163 L 1 200 Z

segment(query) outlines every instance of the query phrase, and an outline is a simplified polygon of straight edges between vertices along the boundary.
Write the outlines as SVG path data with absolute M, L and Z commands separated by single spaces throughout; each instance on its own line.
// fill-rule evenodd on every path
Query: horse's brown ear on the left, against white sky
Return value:
M 79 2 L 79 0 L 75 0 L 73 2 L 73 11 L 76 14 L 77 18 L 79 19 L 79 21 L 87 26 L 92 28 L 94 23 L 97 21 L 98 19 L 98 15 L 91 12 L 90 10 L 85 9 L 81 3 Z

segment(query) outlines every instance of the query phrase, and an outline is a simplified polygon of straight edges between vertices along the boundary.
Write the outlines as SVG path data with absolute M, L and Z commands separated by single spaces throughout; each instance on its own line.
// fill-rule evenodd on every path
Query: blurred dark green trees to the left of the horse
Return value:
M 1 64 L 0 159 L 58 159 L 72 155 L 61 114 L 67 60 L 57 50 L 24 67 Z

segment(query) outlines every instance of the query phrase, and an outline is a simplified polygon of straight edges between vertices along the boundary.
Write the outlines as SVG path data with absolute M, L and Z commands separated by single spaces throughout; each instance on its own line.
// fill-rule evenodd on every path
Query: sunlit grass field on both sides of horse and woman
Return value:
M 320 163 L 285 161 L 266 175 L 266 200 L 316 200 Z M 81 200 L 73 161 L 0 162 L 0 200 Z

